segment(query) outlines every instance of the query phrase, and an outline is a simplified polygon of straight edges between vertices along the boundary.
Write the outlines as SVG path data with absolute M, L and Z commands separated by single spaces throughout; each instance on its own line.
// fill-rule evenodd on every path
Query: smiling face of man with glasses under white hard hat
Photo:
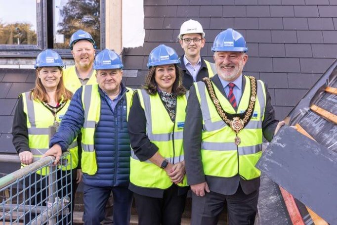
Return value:
M 184 42 L 184 39 L 201 39 L 199 43 L 194 43 L 192 40 L 189 44 L 186 44 Z M 202 38 L 201 34 L 185 34 L 181 37 L 181 40 L 179 40 L 179 43 L 181 47 L 185 51 L 185 55 L 188 58 L 194 58 L 200 55 L 200 50 L 205 45 L 205 39 Z

